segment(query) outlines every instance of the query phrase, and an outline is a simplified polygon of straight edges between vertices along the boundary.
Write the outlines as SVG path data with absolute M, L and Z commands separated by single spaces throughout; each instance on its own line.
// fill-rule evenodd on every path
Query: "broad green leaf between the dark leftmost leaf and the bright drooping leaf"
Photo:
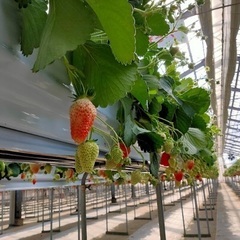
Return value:
M 33 71 L 84 44 L 93 32 L 92 14 L 79 0 L 49 0 L 49 14 Z

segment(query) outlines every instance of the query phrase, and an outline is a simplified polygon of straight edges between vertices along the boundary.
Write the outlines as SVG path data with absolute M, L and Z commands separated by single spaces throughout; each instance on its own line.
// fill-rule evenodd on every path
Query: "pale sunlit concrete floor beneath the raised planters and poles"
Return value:
M 206 191 L 207 192 L 207 191 Z M 194 199 L 189 197 L 190 189 L 182 191 L 183 212 L 181 211 L 181 201 L 179 201 L 179 193 L 171 194 L 170 191 L 165 192 L 165 229 L 167 240 L 183 240 L 183 239 L 206 239 L 206 240 L 236 240 L 240 239 L 240 199 L 233 190 L 226 184 L 220 183 L 217 194 L 209 196 L 206 205 L 211 201 L 214 209 L 207 211 L 198 211 L 200 219 L 208 218 L 212 221 L 199 221 L 200 238 L 198 235 L 197 221 L 193 219 Z M 192 195 L 191 195 L 192 196 Z M 203 206 L 203 191 L 200 189 L 197 194 L 198 207 Z M 147 199 L 144 203 L 127 200 L 127 215 L 125 202 L 119 202 L 111 205 L 112 213 L 108 212 L 108 225 L 106 226 L 106 208 L 100 207 L 87 211 L 87 215 L 92 219 L 87 220 L 87 239 L 88 240 L 157 240 L 160 239 L 159 225 L 157 218 L 157 204 L 154 196 Z M 146 200 L 146 199 L 145 199 Z M 150 200 L 150 201 L 149 201 Z M 138 203 L 138 204 L 137 204 Z M 137 205 L 135 205 L 137 204 Z M 213 205 L 215 204 L 215 205 Z M 171 206 L 170 206 L 171 205 Z M 134 207 L 135 206 L 135 207 Z M 150 209 L 150 211 L 149 211 Z M 96 217 L 97 219 L 93 219 Z M 185 224 L 185 235 L 183 228 L 183 217 Z M 127 218 L 127 223 L 126 223 Z M 137 218 L 137 219 L 136 219 Z M 149 219 L 151 218 L 151 219 Z M 58 228 L 58 221 L 53 222 L 53 229 Z M 49 223 L 45 223 L 45 229 L 49 229 Z M 109 234 L 106 234 L 108 230 Z M 116 234 L 118 232 L 118 234 Z M 208 236 L 209 237 L 206 237 Z M 61 231 L 50 233 L 42 233 L 42 223 L 29 223 L 20 227 L 11 227 L 0 235 L 1 240 L 78 240 L 77 216 L 67 215 L 61 216 Z M 81 239 L 81 238 L 80 238 Z

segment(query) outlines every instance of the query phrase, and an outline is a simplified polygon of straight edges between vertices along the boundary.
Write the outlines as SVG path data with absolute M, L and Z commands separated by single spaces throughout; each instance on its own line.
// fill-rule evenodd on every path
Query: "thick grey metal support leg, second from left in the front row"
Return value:
M 159 181 L 156 185 L 156 195 L 157 195 L 157 207 L 158 207 L 158 221 L 160 230 L 160 239 L 166 240 L 165 232 L 165 222 L 164 222 L 164 210 L 162 203 L 162 183 Z

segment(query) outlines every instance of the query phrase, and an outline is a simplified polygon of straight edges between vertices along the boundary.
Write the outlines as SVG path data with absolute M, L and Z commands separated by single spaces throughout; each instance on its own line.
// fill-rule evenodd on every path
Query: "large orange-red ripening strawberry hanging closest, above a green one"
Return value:
M 70 130 L 72 139 L 83 143 L 97 116 L 97 109 L 88 98 L 76 100 L 70 107 Z

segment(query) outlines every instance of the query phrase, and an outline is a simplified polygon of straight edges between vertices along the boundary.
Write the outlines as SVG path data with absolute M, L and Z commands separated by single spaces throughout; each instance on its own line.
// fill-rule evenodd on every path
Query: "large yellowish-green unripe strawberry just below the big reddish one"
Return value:
M 77 156 L 83 172 L 91 173 L 96 158 L 99 154 L 99 147 L 95 141 L 86 141 L 77 147 Z

